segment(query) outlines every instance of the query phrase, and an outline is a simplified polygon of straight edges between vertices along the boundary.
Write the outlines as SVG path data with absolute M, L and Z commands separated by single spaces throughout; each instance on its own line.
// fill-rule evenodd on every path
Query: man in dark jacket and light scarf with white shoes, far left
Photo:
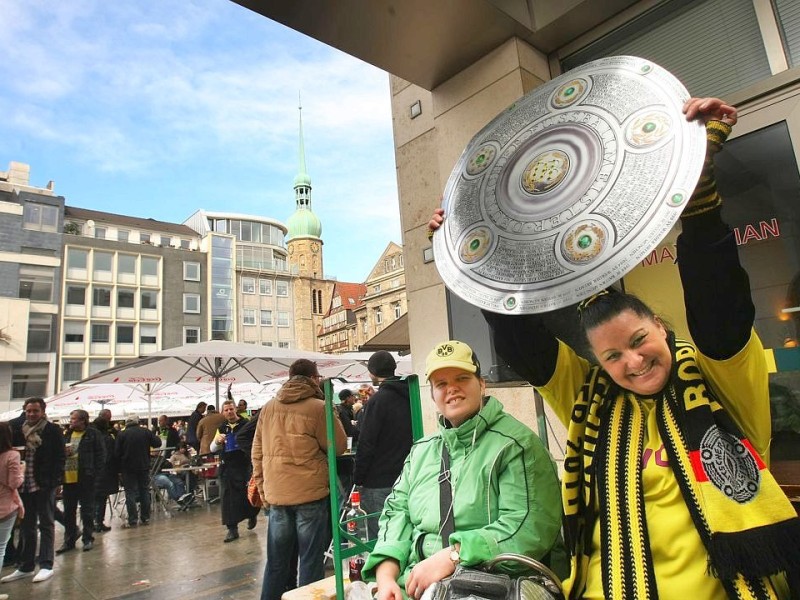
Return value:
M 14 445 L 25 446 L 25 479 L 20 488 L 25 517 L 20 526 L 19 567 L 0 581 L 33 577 L 34 583 L 53 576 L 55 558 L 56 488 L 64 479 L 64 436 L 47 420 L 42 398 L 25 400 L 25 422 L 14 431 Z M 39 572 L 36 566 L 36 527 L 39 527 Z

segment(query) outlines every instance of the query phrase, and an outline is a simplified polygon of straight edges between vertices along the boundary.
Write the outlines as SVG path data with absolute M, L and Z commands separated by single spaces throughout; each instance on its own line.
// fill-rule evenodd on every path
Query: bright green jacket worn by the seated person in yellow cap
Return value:
M 516 552 L 540 559 L 556 543 L 561 494 L 556 467 L 541 440 L 489 397 L 481 411 L 457 428 L 419 440 L 386 499 L 375 549 L 364 566 L 393 558 L 401 587 L 411 568 L 443 547 L 439 531 L 439 472 L 447 444 L 453 481 L 455 533 L 465 566 Z M 421 553 L 422 556 L 419 556 Z

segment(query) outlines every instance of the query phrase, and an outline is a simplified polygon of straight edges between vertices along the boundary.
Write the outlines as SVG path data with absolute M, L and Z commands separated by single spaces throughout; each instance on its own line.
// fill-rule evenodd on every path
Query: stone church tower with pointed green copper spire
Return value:
M 317 333 L 331 301 L 334 282 L 322 268 L 322 223 L 311 210 L 311 177 L 306 170 L 303 107 L 300 111 L 299 168 L 294 178 L 295 211 L 286 221 L 286 247 L 292 274 L 295 339 L 300 350 L 318 349 Z

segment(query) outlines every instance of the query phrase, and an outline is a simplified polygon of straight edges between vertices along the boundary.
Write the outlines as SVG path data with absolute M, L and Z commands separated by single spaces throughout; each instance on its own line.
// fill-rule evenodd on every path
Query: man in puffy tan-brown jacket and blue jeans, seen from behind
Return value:
M 328 436 L 325 401 L 317 364 L 299 359 L 289 367 L 289 381 L 261 409 L 253 439 L 253 477 L 261 499 L 270 506 L 267 564 L 262 600 L 325 577 L 323 557 L 329 521 Z M 347 437 L 333 418 L 336 454 Z M 299 550 L 298 581 L 289 581 L 291 552 Z

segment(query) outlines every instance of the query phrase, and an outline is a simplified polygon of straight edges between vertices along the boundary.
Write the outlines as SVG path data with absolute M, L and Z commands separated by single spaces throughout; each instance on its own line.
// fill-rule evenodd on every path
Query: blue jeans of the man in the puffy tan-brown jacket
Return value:
M 306 585 L 325 577 L 325 544 L 328 541 L 330 499 L 297 504 L 270 506 L 267 527 L 267 564 L 261 600 L 280 600 L 289 581 L 292 548 L 298 549 L 298 585 Z

